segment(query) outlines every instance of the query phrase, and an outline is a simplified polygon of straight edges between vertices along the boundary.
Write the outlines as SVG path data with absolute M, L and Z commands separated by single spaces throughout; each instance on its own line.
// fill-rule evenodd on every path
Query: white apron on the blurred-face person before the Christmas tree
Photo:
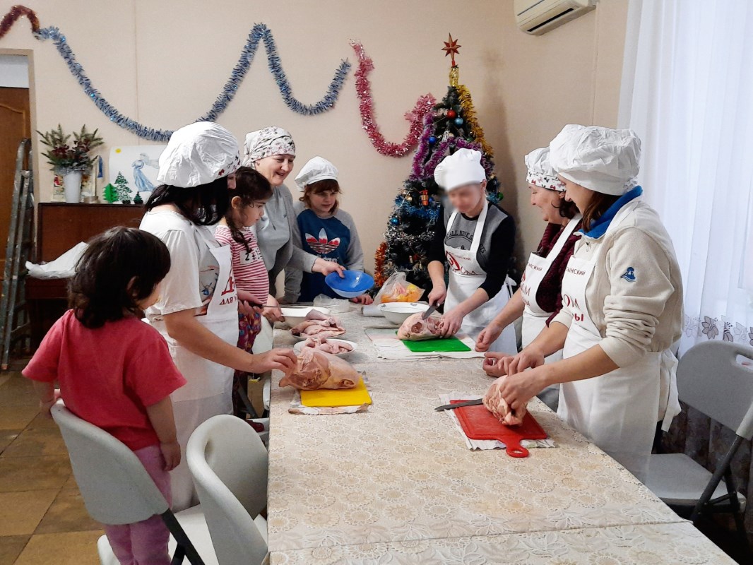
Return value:
M 486 213 L 489 209 L 489 204 L 483 207 L 478 220 L 476 221 L 476 230 L 474 231 L 473 240 L 471 241 L 471 249 L 456 249 L 444 244 L 444 252 L 447 255 L 447 262 L 450 264 L 450 286 L 447 289 L 447 299 L 444 302 L 444 311 L 447 312 L 451 308 L 456 307 L 462 301 L 476 292 L 476 290 L 483 284 L 486 279 L 486 272 L 478 264 L 478 248 L 481 244 L 481 234 L 483 233 L 483 226 L 486 224 Z M 457 217 L 458 212 L 453 212 L 450 215 L 450 221 L 447 222 L 447 232 L 450 232 L 450 228 L 453 227 L 453 222 Z M 511 296 L 511 287 L 515 282 L 508 276 L 505 281 L 505 285 L 500 289 L 497 295 L 485 304 L 481 304 L 476 310 L 469 313 L 468 316 L 463 318 L 461 326 L 462 331 L 474 340 L 478 337 L 481 330 L 486 328 L 486 325 L 495 318 L 505 304 L 508 303 Z M 517 337 L 515 336 L 515 328 L 513 325 L 508 325 L 505 328 L 497 340 L 489 346 L 489 351 L 495 351 L 498 353 L 509 353 L 510 355 L 517 354 Z

